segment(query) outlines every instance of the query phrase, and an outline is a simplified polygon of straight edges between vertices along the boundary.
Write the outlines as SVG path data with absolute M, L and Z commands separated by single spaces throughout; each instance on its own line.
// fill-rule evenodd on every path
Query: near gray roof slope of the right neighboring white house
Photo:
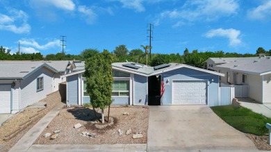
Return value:
M 215 67 L 229 68 L 232 71 L 240 71 L 245 74 L 265 75 L 271 74 L 271 58 L 262 57 L 256 60 L 236 60 L 236 62 L 228 62 Z

